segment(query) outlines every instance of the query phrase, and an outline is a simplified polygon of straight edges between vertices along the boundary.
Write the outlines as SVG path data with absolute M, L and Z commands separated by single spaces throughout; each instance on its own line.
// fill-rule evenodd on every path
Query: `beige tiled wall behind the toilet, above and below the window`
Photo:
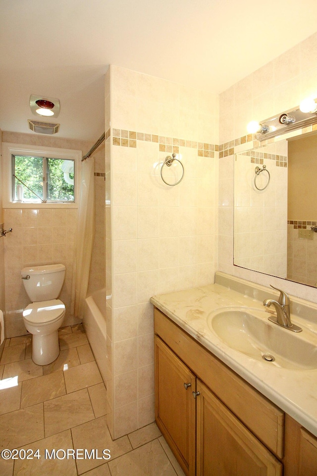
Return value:
M 82 150 L 84 154 L 92 146 L 91 142 L 14 132 L 3 132 L 2 142 Z M 4 240 L 6 337 L 25 334 L 22 311 L 29 303 L 29 298 L 20 277 L 20 271 L 25 266 L 58 262 L 65 264 L 66 275 L 60 294 L 66 306 L 64 324 L 77 323 L 78 319 L 69 312 L 77 209 L 7 208 L 3 216 L 4 227 L 13 229 L 12 233 L 1 238 Z

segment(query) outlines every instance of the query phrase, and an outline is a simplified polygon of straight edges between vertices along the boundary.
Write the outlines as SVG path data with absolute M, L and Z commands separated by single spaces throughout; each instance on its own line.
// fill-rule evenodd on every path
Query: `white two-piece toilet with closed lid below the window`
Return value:
M 32 360 L 47 365 L 59 355 L 58 328 L 65 316 L 60 294 L 65 266 L 52 264 L 21 270 L 25 291 L 32 301 L 23 311 L 26 329 L 32 334 Z

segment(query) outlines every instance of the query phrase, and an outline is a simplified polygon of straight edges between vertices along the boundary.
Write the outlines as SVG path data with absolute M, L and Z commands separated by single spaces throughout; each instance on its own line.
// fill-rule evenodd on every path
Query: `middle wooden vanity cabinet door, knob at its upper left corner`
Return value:
M 197 476 L 281 476 L 282 464 L 197 379 Z

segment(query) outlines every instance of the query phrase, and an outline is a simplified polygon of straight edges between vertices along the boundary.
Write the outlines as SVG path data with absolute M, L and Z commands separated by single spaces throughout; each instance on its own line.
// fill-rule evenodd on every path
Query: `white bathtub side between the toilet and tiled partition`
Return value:
M 86 297 L 83 325 L 106 384 L 106 288 Z

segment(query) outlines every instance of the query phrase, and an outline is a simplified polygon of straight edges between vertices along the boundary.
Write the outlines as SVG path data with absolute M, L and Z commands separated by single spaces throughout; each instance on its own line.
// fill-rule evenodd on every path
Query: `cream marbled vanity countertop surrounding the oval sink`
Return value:
M 221 280 L 218 281 L 221 282 Z M 235 278 L 234 281 L 237 283 L 239 279 Z M 223 285 L 228 283 L 230 286 L 228 280 L 222 284 L 154 296 L 151 298 L 151 302 L 271 402 L 317 436 L 317 369 L 281 368 L 274 365 L 274 362 L 264 360 L 262 362 L 248 357 L 228 347 L 208 326 L 209 314 L 221 307 L 247 306 L 265 312 L 263 296 L 267 290 L 266 297 L 271 297 L 269 296 L 270 290 L 256 285 L 255 291 L 249 292 L 248 296 L 241 293 L 243 290 L 241 286 L 239 291 L 236 291 L 232 288 L 237 289 L 237 286 Z M 252 283 L 249 285 L 249 288 L 252 289 Z M 273 296 L 276 298 L 276 294 Z M 293 307 L 301 308 L 301 300 L 296 299 L 296 301 L 298 305 Z M 304 308 L 305 305 L 308 308 L 309 303 L 303 302 Z M 315 317 L 315 315 L 317 316 L 316 305 L 312 304 L 312 306 L 311 314 Z M 266 315 L 268 314 L 264 316 L 266 317 Z M 303 332 L 307 325 L 311 331 L 317 333 L 317 317 L 314 325 L 312 318 L 306 321 L 302 316 L 292 314 L 291 317 L 294 324 L 303 327 Z M 286 329 L 283 329 L 284 331 L 291 332 Z

